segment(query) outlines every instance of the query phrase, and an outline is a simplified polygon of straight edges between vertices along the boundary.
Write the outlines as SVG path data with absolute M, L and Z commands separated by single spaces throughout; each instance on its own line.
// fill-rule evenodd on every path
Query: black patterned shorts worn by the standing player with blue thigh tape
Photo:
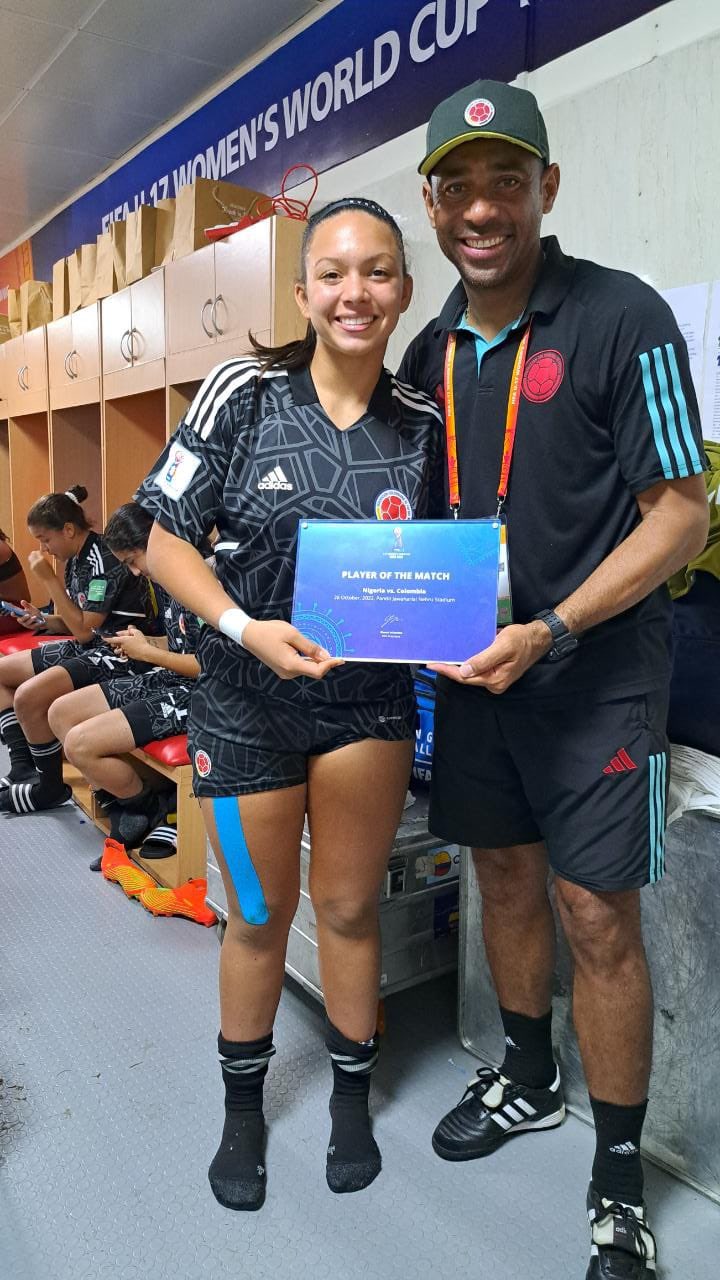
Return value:
M 218 680 L 201 678 L 193 689 L 188 727 L 195 795 L 237 796 L 301 786 L 310 756 L 364 739 L 414 741 L 414 695 L 304 705 L 249 690 L 238 695 Z

